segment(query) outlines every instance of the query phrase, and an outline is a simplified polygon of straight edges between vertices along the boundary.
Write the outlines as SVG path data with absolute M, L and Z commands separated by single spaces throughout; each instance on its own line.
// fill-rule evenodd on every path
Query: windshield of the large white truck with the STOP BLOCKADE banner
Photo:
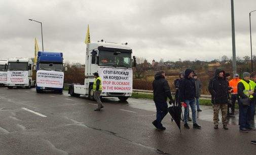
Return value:
M 131 53 L 120 53 L 114 55 L 115 52 L 99 51 L 99 65 L 115 66 L 115 67 L 132 67 Z

